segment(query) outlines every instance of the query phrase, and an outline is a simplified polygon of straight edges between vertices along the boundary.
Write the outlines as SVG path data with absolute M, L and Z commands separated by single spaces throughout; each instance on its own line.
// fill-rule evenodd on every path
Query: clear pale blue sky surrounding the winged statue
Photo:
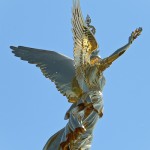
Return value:
M 0 1 L 0 149 L 41 150 L 67 123 L 70 104 L 34 65 L 13 56 L 10 45 L 55 50 L 73 56 L 72 1 Z M 142 35 L 104 75 L 104 116 L 92 150 L 150 149 L 150 1 L 81 0 L 84 17 L 96 27 L 100 55 Z M 66 68 L 67 71 L 67 68 Z

